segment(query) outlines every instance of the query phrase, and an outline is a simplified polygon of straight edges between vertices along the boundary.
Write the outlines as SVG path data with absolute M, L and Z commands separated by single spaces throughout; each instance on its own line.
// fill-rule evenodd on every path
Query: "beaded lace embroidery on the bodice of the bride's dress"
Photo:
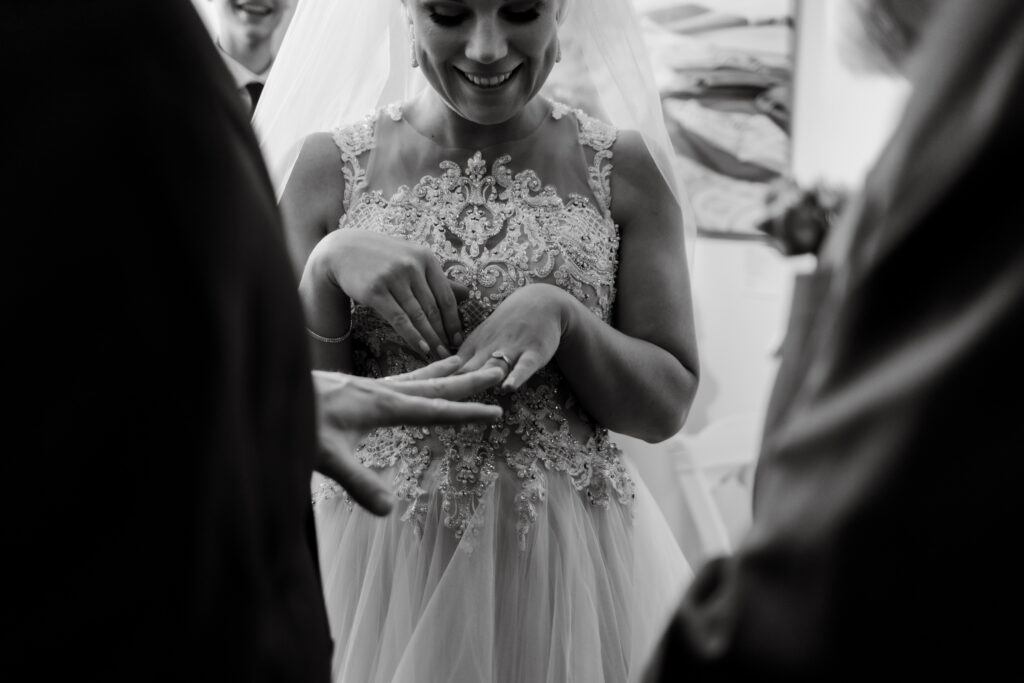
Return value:
M 552 104 L 555 121 L 571 116 L 578 123 L 579 141 L 591 159 L 592 198 L 562 198 L 534 171 L 513 172 L 510 156 L 488 160 L 479 152 L 462 163 L 443 161 L 437 175 L 386 197 L 372 189 L 367 177 L 382 116 L 401 121 L 400 109 L 390 105 L 333 133 L 345 179 L 339 229 L 372 230 L 430 247 L 445 274 L 469 288 L 469 299 L 460 305 L 467 334 L 513 291 L 532 283 L 564 289 L 609 322 L 618 250 L 610 211 L 614 128 Z M 423 365 L 366 306 L 354 308 L 353 339 L 356 374 L 382 377 Z M 482 514 L 481 497 L 503 473 L 518 482 L 515 514 L 522 547 L 549 476 L 569 477 L 595 506 L 631 503 L 633 482 L 617 447 L 577 403 L 557 366 L 549 365 L 509 395 L 487 392 L 479 399 L 503 405 L 499 424 L 379 429 L 360 446 L 365 465 L 393 471 L 395 495 L 408 504 L 404 519 L 422 526 L 427 500 L 436 493 L 445 525 L 462 538 Z M 327 482 L 315 498 L 336 493 Z

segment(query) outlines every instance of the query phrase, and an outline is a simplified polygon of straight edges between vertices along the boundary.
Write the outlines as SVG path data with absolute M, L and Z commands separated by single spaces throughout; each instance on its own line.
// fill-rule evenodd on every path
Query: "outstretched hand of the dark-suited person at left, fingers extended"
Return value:
M 341 484 L 352 500 L 371 512 L 390 512 L 390 492 L 355 458 L 356 446 L 371 429 L 496 422 L 502 417 L 498 405 L 460 401 L 497 386 L 504 372 L 486 367 L 452 376 L 461 366 L 460 358 L 453 356 L 386 380 L 314 370 L 319 436 L 316 470 Z

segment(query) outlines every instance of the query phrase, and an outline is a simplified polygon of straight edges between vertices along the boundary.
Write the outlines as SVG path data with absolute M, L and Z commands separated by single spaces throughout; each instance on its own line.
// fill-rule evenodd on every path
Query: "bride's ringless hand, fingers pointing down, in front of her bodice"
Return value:
M 445 358 L 463 342 L 453 284 L 427 247 L 370 230 L 327 234 L 310 258 L 325 259 L 335 284 L 370 306 L 427 358 Z

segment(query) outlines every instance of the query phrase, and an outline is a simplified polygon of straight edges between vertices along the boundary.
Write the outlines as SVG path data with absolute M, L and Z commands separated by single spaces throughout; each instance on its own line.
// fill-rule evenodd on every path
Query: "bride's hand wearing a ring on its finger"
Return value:
M 521 387 L 554 357 L 568 321 L 571 295 L 554 285 L 527 285 L 513 292 L 459 347 L 459 373 L 499 367 L 502 389 Z M 503 359 L 506 358 L 506 359 Z

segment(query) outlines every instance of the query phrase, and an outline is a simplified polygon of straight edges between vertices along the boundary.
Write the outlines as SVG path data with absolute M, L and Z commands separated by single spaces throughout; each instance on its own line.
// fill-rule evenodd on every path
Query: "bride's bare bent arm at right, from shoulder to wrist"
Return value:
M 596 420 L 658 441 L 682 427 L 699 374 L 682 216 L 639 135 L 624 131 L 613 153 L 614 328 L 570 306 L 556 359 Z

